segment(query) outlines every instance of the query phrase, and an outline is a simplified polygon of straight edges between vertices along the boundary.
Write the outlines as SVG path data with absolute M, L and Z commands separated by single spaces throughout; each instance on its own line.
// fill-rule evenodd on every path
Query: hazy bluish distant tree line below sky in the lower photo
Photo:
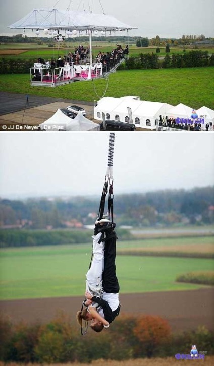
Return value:
M 0 228 L 66 228 L 93 224 L 99 198 L 74 197 L 0 200 Z M 192 190 L 159 190 L 148 193 L 117 195 L 115 217 L 118 225 L 156 226 L 214 222 L 214 186 Z

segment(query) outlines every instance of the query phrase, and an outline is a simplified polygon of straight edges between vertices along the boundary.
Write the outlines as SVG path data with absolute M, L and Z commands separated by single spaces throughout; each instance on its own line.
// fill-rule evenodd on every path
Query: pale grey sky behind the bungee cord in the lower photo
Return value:
M 108 141 L 108 132 L 0 133 L 0 196 L 100 195 Z M 213 158 L 211 132 L 117 133 L 115 194 L 213 185 Z

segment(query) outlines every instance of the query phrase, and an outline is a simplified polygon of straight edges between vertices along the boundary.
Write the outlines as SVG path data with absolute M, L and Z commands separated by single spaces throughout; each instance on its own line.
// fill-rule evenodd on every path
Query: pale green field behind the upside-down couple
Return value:
M 181 239 L 181 245 L 184 240 L 186 239 Z M 158 247 L 161 242 L 158 239 L 143 240 L 142 245 L 154 246 L 154 241 Z M 133 243 L 129 242 L 129 245 Z M 136 242 L 134 245 L 136 246 Z M 166 245 L 170 246 L 172 243 L 168 241 Z M 118 242 L 119 249 L 127 246 L 128 242 Z M 90 257 L 91 244 L 1 250 L 0 299 L 81 296 L 85 289 L 85 273 Z M 175 279 L 185 272 L 211 271 L 214 261 L 118 255 L 116 264 L 121 293 L 134 293 L 204 287 L 176 283 Z

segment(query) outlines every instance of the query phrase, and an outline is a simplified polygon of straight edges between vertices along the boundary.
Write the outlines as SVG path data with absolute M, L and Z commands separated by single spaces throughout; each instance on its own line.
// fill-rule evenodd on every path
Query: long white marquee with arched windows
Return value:
M 106 119 L 127 122 L 130 121 L 127 108 L 131 108 L 133 124 L 141 128 L 155 129 L 159 116 L 168 115 L 168 110 L 172 108 L 172 105 L 142 101 L 135 96 L 104 97 L 98 101 L 94 108 L 94 118 L 102 120 L 102 113 L 105 113 Z

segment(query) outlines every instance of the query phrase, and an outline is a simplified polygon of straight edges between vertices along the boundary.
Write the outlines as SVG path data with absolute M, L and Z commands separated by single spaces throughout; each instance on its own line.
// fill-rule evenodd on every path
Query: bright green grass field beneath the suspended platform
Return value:
M 60 90 L 59 90 L 60 89 Z M 66 84 L 56 88 L 30 86 L 30 76 L 1 75 L 0 90 L 93 102 L 102 97 L 106 80 Z M 141 100 L 214 109 L 214 67 L 117 71 L 109 77 L 105 96 L 137 95 Z M 95 92 L 96 91 L 96 92 Z M 97 94 L 96 94 L 97 93 Z

